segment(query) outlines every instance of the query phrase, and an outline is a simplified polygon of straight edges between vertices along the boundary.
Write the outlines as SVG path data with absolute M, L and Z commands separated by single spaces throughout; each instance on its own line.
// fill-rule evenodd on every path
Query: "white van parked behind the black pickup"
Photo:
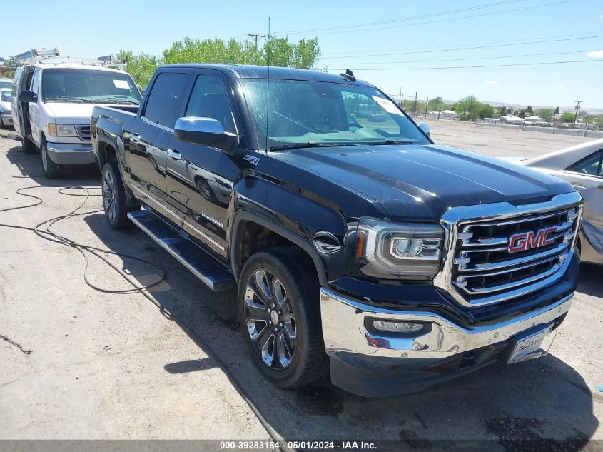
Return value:
M 90 117 L 95 105 L 138 109 L 140 91 L 126 72 L 76 64 L 34 64 L 16 70 L 14 127 L 26 154 L 39 149 L 48 178 L 65 165 L 94 162 Z

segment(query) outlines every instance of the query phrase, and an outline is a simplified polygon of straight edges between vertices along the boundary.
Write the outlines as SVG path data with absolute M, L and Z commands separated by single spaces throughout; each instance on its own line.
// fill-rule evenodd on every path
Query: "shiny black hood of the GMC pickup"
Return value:
M 392 219 L 440 219 L 452 206 L 540 201 L 574 191 L 538 171 L 447 146 L 340 146 L 276 154 L 374 199 Z

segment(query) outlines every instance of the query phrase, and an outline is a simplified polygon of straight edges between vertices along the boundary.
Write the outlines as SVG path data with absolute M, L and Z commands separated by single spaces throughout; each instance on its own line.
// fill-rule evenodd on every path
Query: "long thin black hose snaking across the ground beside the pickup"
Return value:
M 22 178 L 22 179 L 27 178 L 27 176 L 14 176 L 14 177 Z M 27 178 L 27 179 L 29 179 L 29 178 Z M 69 246 L 70 248 L 75 248 L 76 250 L 78 250 L 82 254 L 83 259 L 84 259 L 83 279 L 86 282 L 86 284 L 88 286 L 90 286 L 91 288 L 93 288 L 95 291 L 99 291 L 102 293 L 114 293 L 114 294 L 136 293 L 136 292 L 142 293 L 143 296 L 145 296 L 149 301 L 151 301 L 151 303 L 153 303 L 159 309 L 159 311 L 161 312 L 161 314 L 163 316 L 165 316 L 169 320 L 175 322 L 187 334 L 187 336 L 189 338 L 191 338 L 191 340 L 193 340 L 197 344 L 197 346 L 199 346 L 199 348 L 202 348 L 203 351 L 205 351 L 207 353 L 207 355 L 213 359 L 213 361 L 216 361 L 216 363 L 218 363 L 218 366 L 221 368 L 221 370 L 224 372 L 224 374 L 228 377 L 228 380 L 233 385 L 233 388 L 235 388 L 235 391 L 237 391 L 237 393 L 243 398 L 245 403 L 247 403 L 250 410 L 253 411 L 255 416 L 258 418 L 258 421 L 260 421 L 262 426 L 265 428 L 265 431 L 268 433 L 268 435 L 270 436 L 272 441 L 274 441 L 275 444 L 278 444 L 278 450 L 281 452 L 283 452 L 284 450 L 290 450 L 287 447 L 283 438 L 280 438 L 278 436 L 278 433 L 275 432 L 275 430 L 272 428 L 272 426 L 270 426 L 270 423 L 268 423 L 268 421 L 266 421 L 266 419 L 262 416 L 262 414 L 260 413 L 258 408 L 255 406 L 255 404 L 245 394 L 243 389 L 239 386 L 238 382 L 228 371 L 228 368 L 226 368 L 226 365 L 223 363 L 223 361 L 220 358 L 218 358 L 216 353 L 214 353 L 211 350 L 211 348 L 208 347 L 208 345 L 203 341 L 203 339 L 201 339 L 200 336 L 198 336 L 196 333 L 193 333 L 193 331 L 191 331 L 189 328 L 187 328 L 181 321 L 178 320 L 178 318 L 173 317 L 172 314 L 166 308 L 163 308 L 163 306 L 161 306 L 161 304 L 158 303 L 155 298 L 153 298 L 151 293 L 148 292 L 149 288 L 152 288 L 153 286 L 158 285 L 166 278 L 166 272 L 163 270 L 163 268 L 156 266 L 154 263 L 145 261 L 144 259 L 138 258 L 136 256 L 131 256 L 131 255 L 124 254 L 124 253 L 117 253 L 116 251 L 111 251 L 111 250 L 108 250 L 105 248 L 97 248 L 96 246 L 90 246 L 90 245 L 85 245 L 83 243 L 78 243 L 74 240 L 71 240 L 71 238 L 68 238 L 66 236 L 61 236 L 58 233 L 51 231 L 51 227 L 54 226 L 55 224 L 59 223 L 59 221 L 63 221 L 65 219 L 69 219 L 69 218 L 74 218 L 76 216 L 84 216 L 84 215 L 97 214 L 99 212 L 103 212 L 103 210 L 79 212 L 79 210 L 83 208 L 83 206 L 86 204 L 86 201 L 88 201 L 88 199 L 91 196 L 101 196 L 100 194 L 98 194 L 98 195 L 90 194 L 90 190 L 91 189 L 100 190 L 101 188 L 98 186 L 97 187 L 58 186 L 58 185 L 56 185 L 56 186 L 26 186 L 26 187 L 17 189 L 15 191 L 15 193 L 20 196 L 26 196 L 28 198 L 35 199 L 36 201 L 34 201 L 34 203 L 32 203 L 32 204 L 26 204 L 25 206 L 14 206 L 14 207 L 9 207 L 9 208 L 5 208 L 5 209 L 0 209 L 0 213 L 6 212 L 6 211 L 15 211 L 15 210 L 19 210 L 19 209 L 29 209 L 31 207 L 39 206 L 40 204 L 42 204 L 44 201 L 39 196 L 36 196 L 34 194 L 24 193 L 24 191 L 26 191 L 26 190 L 34 190 L 34 189 L 57 189 L 57 191 L 60 194 L 67 195 L 67 196 L 83 196 L 84 199 L 83 199 L 82 203 L 79 206 L 77 206 L 76 209 L 69 212 L 69 214 L 56 216 L 54 218 L 42 221 L 41 223 L 36 224 L 36 226 L 34 226 L 33 228 L 28 227 L 28 226 L 19 226 L 16 224 L 2 224 L 2 223 L 0 223 L 0 227 L 22 229 L 25 231 L 33 231 L 37 236 L 44 238 L 44 240 L 48 240 L 53 243 L 58 243 L 59 245 L 63 245 L 63 246 Z M 67 192 L 67 191 L 74 191 L 74 190 L 75 191 L 84 191 L 85 193 L 80 194 L 80 193 Z M 128 283 L 131 284 L 131 286 L 133 286 L 133 288 L 125 289 L 125 290 L 113 290 L 113 289 L 108 289 L 108 288 L 102 288 L 102 287 L 96 286 L 96 284 L 92 283 L 88 279 L 88 254 L 87 253 L 91 253 L 93 256 L 96 256 L 97 258 L 101 259 L 101 261 L 106 263 L 108 266 L 113 268 L 113 270 L 115 270 L 117 273 L 119 273 L 119 275 L 121 275 L 122 278 L 124 278 Z M 114 263 L 109 261 L 101 253 L 112 254 L 113 256 L 118 256 L 120 258 L 128 258 L 128 259 L 132 259 L 134 261 L 144 263 L 148 266 L 156 268 L 156 270 L 158 271 L 158 274 L 160 276 L 158 277 L 158 279 L 156 281 L 153 281 L 150 284 L 141 286 L 131 279 L 131 275 L 128 275 L 128 273 L 123 271 L 122 268 L 119 268 L 118 266 L 116 266 Z

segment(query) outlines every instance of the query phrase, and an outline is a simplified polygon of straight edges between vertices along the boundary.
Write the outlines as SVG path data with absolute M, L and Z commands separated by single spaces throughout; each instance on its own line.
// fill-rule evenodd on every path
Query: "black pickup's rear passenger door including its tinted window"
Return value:
M 185 70 L 158 74 L 130 134 L 130 176 L 136 196 L 179 226 L 179 217 L 166 206 L 166 151 L 189 76 Z

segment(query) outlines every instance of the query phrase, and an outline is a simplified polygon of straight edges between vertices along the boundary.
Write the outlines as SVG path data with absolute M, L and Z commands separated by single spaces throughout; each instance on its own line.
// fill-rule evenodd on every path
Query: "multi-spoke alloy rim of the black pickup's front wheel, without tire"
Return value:
M 255 353 L 273 371 L 295 358 L 297 322 L 293 303 L 278 276 L 260 268 L 245 287 L 245 323 Z

